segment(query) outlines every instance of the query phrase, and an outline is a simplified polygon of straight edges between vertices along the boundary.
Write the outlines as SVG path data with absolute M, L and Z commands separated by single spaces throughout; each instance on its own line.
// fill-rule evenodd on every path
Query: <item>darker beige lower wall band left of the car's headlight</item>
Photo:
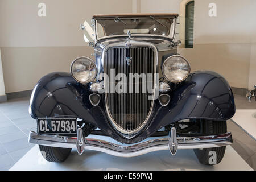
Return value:
M 3 75 L 6 93 L 30 90 L 36 82 L 51 72 L 69 72 L 72 60 L 90 56 L 93 49 L 72 47 L 3 47 Z

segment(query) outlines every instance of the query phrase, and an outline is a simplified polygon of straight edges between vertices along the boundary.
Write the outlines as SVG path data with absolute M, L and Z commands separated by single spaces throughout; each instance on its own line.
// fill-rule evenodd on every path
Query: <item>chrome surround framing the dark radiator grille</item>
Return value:
M 125 42 L 119 42 L 119 43 L 113 43 L 113 44 L 109 44 L 108 46 L 104 47 L 103 51 L 102 51 L 102 70 L 104 71 L 105 68 L 105 54 L 106 54 L 106 50 L 108 50 L 108 48 L 112 48 L 112 47 L 126 47 L 126 41 Z M 149 43 L 149 42 L 141 42 L 141 41 L 134 41 L 134 40 L 130 40 L 129 42 L 131 44 L 131 47 L 151 47 L 152 49 L 154 49 L 154 59 L 155 59 L 155 73 L 158 73 L 158 50 L 155 47 L 154 44 Z M 105 71 L 104 71 L 105 73 Z M 107 85 L 108 83 L 106 82 L 106 79 L 104 79 L 104 85 Z M 156 76 L 154 75 L 154 84 L 155 84 L 155 92 L 154 92 L 154 98 L 155 98 L 155 93 L 158 92 L 158 80 L 156 78 Z M 106 97 L 106 93 L 105 93 L 105 97 Z M 105 106 L 106 106 L 106 114 L 108 115 L 108 118 L 110 119 L 112 125 L 114 126 L 114 128 L 123 135 L 123 137 L 126 137 L 128 139 L 135 137 L 135 134 L 137 134 L 140 130 L 143 129 L 143 127 L 146 125 L 148 118 L 150 117 L 150 115 L 152 114 L 152 108 L 154 106 L 154 102 L 155 100 L 152 101 L 151 104 L 151 109 L 150 112 L 148 113 L 148 117 L 145 119 L 145 121 L 142 123 L 141 126 L 139 126 L 137 129 L 135 130 L 131 130 L 131 131 L 127 131 L 122 129 L 122 127 L 118 126 L 114 119 L 112 118 L 112 115 L 110 114 L 109 111 L 109 107 L 108 107 L 108 101 L 105 98 Z

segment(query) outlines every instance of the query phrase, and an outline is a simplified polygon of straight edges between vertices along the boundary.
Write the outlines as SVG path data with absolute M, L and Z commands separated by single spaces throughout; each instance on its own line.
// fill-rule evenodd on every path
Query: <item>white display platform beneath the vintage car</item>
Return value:
M 109 137 L 90 135 L 114 142 Z M 233 150 L 226 147 L 224 159 L 215 166 L 200 164 L 193 150 L 178 150 L 175 156 L 170 151 L 156 151 L 134 158 L 120 158 L 98 151 L 85 150 L 82 155 L 72 150 L 63 163 L 51 163 L 43 159 L 39 147 L 34 146 L 10 170 L 253 170 Z

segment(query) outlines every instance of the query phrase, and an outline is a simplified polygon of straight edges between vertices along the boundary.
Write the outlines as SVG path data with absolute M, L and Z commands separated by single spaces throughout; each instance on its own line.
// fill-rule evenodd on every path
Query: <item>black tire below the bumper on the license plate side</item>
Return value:
M 59 148 L 39 145 L 39 149 L 44 159 L 49 162 L 63 162 L 71 152 L 71 148 Z

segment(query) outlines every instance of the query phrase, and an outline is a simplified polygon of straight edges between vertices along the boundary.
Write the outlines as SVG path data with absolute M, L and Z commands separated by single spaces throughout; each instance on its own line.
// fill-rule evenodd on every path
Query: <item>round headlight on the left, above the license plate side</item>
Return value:
M 71 74 L 76 81 L 87 84 L 94 80 L 97 68 L 93 60 L 88 57 L 79 57 L 71 64 Z

